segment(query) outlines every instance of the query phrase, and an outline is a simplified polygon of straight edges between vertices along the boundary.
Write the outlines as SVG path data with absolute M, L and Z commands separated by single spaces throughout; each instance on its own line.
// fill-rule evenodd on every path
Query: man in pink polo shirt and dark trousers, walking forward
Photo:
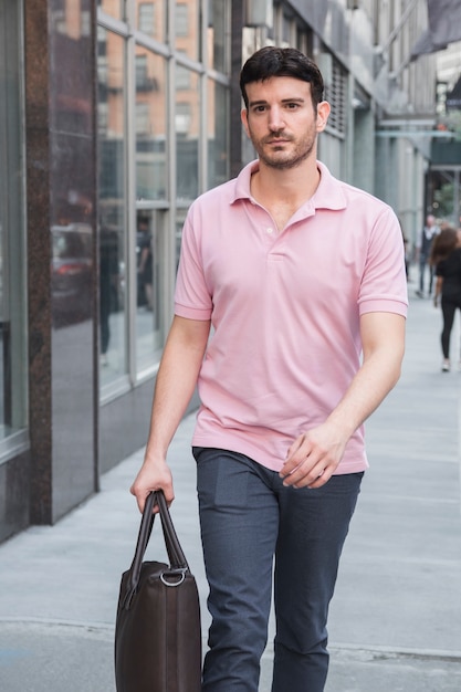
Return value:
M 258 691 L 275 556 L 272 690 L 321 692 L 328 604 L 367 466 L 362 424 L 400 373 L 404 245 L 386 205 L 316 160 L 329 105 L 311 60 L 263 48 L 240 85 L 259 159 L 190 208 L 132 492 L 140 510 L 150 490 L 172 501 L 167 448 L 198 381 L 212 616 L 202 690 Z

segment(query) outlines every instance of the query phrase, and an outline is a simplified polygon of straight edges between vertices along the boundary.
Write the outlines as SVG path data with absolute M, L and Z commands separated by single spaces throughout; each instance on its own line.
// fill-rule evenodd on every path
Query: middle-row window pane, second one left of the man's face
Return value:
M 180 83 L 184 83 L 185 67 L 179 70 Z M 192 201 L 199 191 L 199 135 L 200 135 L 200 80 L 192 71 L 189 74 L 189 90 L 176 91 L 176 186 L 180 200 Z

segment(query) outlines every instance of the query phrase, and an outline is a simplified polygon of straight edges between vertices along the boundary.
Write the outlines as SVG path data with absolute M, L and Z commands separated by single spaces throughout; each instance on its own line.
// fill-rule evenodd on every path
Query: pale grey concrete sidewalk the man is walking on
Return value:
M 440 371 L 440 312 L 411 301 L 402 378 L 367 423 L 370 470 L 331 609 L 326 692 L 461 690 L 461 373 Z M 455 357 L 459 343 L 457 324 Z M 193 416 L 170 451 L 171 515 L 199 584 L 205 632 L 192 427 Z M 2 692 L 115 692 L 118 584 L 139 526 L 128 487 L 142 457 L 105 474 L 102 492 L 55 526 L 0 546 Z M 270 675 L 271 647 L 260 692 L 270 692 Z

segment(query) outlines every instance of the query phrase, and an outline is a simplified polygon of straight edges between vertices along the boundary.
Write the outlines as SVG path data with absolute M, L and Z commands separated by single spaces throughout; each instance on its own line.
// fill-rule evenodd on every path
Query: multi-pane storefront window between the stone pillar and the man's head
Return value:
M 229 169 L 230 1 L 125 0 L 125 13 L 121 7 L 98 4 L 104 402 L 155 374 L 187 209 Z

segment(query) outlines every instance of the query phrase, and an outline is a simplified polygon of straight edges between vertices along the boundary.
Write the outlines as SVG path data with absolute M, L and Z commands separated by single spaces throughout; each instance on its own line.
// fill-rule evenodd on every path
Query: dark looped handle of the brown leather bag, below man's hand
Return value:
M 158 504 L 159 508 L 161 527 L 165 538 L 165 545 L 168 553 L 168 559 L 170 562 L 170 568 L 172 572 L 178 572 L 182 574 L 189 570 L 189 565 L 187 564 L 187 559 L 176 534 L 175 526 L 172 525 L 171 515 L 169 513 L 164 492 L 161 490 L 151 492 L 146 499 L 146 504 L 144 506 L 138 538 L 136 543 L 135 555 L 132 566 L 129 568 L 127 593 L 124 599 L 125 608 L 129 608 L 132 599 L 136 594 L 139 584 L 143 558 L 144 554 L 146 553 L 147 544 L 149 542 L 154 526 L 155 514 L 153 514 L 153 510 L 156 504 Z

